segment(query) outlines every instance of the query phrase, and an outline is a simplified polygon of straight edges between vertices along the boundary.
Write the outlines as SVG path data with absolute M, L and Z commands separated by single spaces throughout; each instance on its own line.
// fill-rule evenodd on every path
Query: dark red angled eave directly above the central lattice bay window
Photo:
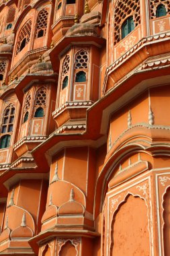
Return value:
M 105 39 L 99 36 L 65 36 L 60 40 L 50 52 L 50 60 L 54 71 L 59 69 L 59 59 L 71 46 L 71 44 L 93 44 L 101 48 L 105 44 Z M 58 58 L 58 61 L 56 59 Z

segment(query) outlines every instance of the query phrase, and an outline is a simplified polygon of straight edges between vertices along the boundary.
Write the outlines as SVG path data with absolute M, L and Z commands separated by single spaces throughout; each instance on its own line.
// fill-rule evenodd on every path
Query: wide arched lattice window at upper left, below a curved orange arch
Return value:
M 22 49 L 24 49 L 26 44 L 30 42 L 31 29 L 32 29 L 32 21 L 28 20 L 28 22 L 26 22 L 26 24 L 22 27 L 22 29 L 19 32 L 19 36 L 17 39 L 16 54 L 22 51 Z

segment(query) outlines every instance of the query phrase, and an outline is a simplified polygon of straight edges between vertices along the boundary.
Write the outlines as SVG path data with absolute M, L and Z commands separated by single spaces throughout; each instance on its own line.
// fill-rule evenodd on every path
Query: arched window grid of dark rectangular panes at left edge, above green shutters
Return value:
M 13 131 L 13 120 L 15 115 L 15 108 L 12 104 L 5 108 L 3 113 L 3 121 L 1 126 L 1 133 L 9 133 Z

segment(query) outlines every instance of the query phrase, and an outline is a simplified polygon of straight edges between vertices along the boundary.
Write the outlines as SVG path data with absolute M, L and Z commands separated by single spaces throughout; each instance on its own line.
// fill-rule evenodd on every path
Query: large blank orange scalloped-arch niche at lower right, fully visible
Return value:
M 110 256 L 150 255 L 147 207 L 144 199 L 127 195 L 114 213 Z

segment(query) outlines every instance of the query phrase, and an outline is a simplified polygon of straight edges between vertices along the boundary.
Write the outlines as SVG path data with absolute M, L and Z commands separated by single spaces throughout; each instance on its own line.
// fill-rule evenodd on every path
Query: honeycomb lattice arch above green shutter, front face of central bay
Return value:
M 75 56 L 75 69 L 87 69 L 89 55 L 87 51 L 81 50 Z

